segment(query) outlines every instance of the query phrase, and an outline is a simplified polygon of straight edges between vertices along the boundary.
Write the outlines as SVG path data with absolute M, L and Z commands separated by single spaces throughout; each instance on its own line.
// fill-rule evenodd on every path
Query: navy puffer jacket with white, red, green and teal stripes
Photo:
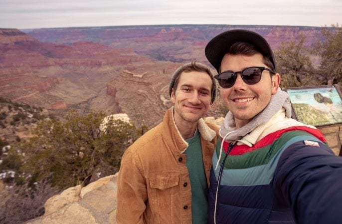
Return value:
M 282 110 L 263 127 L 222 146 L 219 163 L 220 140 L 213 154 L 209 224 L 330 224 L 342 216 L 331 211 L 341 203 L 328 198 L 342 200 L 337 181 L 342 159 L 315 127 L 286 118 Z

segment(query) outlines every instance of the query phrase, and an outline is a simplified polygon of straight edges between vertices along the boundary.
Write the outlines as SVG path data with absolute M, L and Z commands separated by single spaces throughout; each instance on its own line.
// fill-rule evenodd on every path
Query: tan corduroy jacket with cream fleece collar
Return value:
M 183 153 L 187 143 L 172 111 L 124 153 L 117 182 L 117 224 L 191 224 L 191 186 Z M 218 129 L 203 119 L 197 128 L 208 182 Z

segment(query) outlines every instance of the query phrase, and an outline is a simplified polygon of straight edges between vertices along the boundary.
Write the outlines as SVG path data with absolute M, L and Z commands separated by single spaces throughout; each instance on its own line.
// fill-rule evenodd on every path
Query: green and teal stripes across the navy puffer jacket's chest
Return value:
M 301 132 L 298 136 L 298 132 Z M 304 133 L 304 135 L 303 135 Z M 222 174 L 221 185 L 229 186 L 255 186 L 255 185 L 268 185 L 272 179 L 276 170 L 278 160 L 283 151 L 287 149 L 291 144 L 299 141 L 311 140 L 321 142 L 313 135 L 307 134 L 303 131 L 291 131 L 284 133 L 279 139 L 272 144 L 260 149 L 256 149 L 252 152 L 245 153 L 243 155 L 228 155 L 225 161 L 225 166 Z M 272 147 L 273 144 L 282 145 L 282 147 Z M 221 146 L 221 140 L 217 141 L 216 153 L 212 158 L 213 168 L 215 168 L 219 148 Z M 277 148 L 278 150 L 272 150 Z M 218 152 L 217 152 L 218 150 Z M 268 153 L 266 160 L 260 160 L 259 158 L 265 158 L 265 153 Z M 215 172 L 216 180 L 218 178 L 218 172 L 221 168 L 225 154 L 223 155 Z M 246 159 L 248 161 L 246 161 Z M 242 164 L 241 162 L 244 161 Z M 238 163 L 240 162 L 240 163 Z M 265 163 L 267 162 L 267 163 Z M 233 168 L 233 169 L 232 169 Z

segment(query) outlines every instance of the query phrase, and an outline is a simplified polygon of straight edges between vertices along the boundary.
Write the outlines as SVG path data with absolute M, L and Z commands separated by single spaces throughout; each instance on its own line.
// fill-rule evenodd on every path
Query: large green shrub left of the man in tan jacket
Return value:
M 22 171 L 31 182 L 48 180 L 59 189 L 115 174 L 139 132 L 131 124 L 111 119 L 101 130 L 104 117 L 102 112 L 82 116 L 71 111 L 65 121 L 41 121 L 34 130 L 36 137 L 17 146 L 26 154 Z

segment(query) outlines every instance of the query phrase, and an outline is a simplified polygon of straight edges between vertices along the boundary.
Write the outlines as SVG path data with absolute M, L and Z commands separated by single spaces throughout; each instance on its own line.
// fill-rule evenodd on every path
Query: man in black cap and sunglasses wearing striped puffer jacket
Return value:
M 212 158 L 209 224 L 342 222 L 342 158 L 291 119 L 273 52 L 248 30 L 215 36 L 205 55 L 229 110 Z

